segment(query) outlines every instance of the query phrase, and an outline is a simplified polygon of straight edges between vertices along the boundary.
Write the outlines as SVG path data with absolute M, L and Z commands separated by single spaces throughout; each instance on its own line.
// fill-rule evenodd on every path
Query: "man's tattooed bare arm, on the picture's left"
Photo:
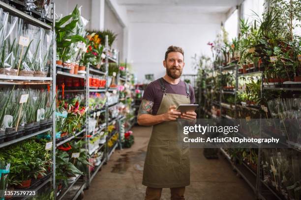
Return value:
M 152 115 L 152 106 L 152 101 L 142 100 L 137 118 L 139 125 L 156 125 L 162 122 L 176 120 L 179 118 L 179 115 L 181 115 L 181 112 L 173 111 L 176 109 L 175 105 L 170 106 L 168 112 L 165 114 Z

